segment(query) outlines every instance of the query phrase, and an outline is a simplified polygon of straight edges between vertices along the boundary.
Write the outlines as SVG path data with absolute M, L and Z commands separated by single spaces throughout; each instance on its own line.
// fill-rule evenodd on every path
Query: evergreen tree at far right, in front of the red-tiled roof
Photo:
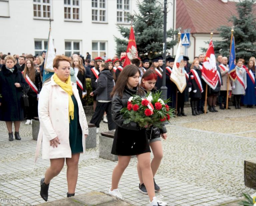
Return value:
M 247 62 L 251 56 L 256 56 L 256 18 L 253 14 L 255 0 L 245 0 L 236 4 L 238 16 L 229 19 L 234 25 L 236 58 L 243 58 Z M 229 57 L 231 27 L 221 26 L 217 29 L 223 41 L 214 41 L 216 55 Z

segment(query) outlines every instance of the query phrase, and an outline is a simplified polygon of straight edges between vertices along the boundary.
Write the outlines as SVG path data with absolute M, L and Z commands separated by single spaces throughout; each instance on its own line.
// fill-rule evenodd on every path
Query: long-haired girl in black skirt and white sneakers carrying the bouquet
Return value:
M 111 153 L 118 156 L 118 163 L 113 170 L 110 195 L 122 198 L 118 190 L 118 183 L 125 168 L 129 165 L 132 155 L 138 158 L 142 170 L 144 184 L 147 188 L 151 206 L 167 205 L 155 197 L 153 173 L 150 167 L 150 148 L 145 128 L 137 123 L 124 124 L 120 110 L 127 107 L 127 102 L 134 94 L 144 95 L 138 87 L 140 70 L 134 65 L 127 65 L 120 73 L 114 90 L 112 91 L 112 118 L 117 124 Z

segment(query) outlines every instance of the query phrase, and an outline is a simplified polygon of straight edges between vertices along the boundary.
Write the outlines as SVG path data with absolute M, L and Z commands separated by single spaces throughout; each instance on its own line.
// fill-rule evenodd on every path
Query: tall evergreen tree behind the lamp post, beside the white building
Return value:
M 149 58 L 152 58 L 163 52 L 163 8 L 157 0 L 144 0 L 138 2 L 137 5 L 140 14 L 134 15 L 133 29 L 138 55 L 140 57 L 148 55 Z M 121 51 L 126 51 L 130 28 L 118 25 L 118 30 L 125 39 L 115 37 L 117 55 Z M 171 49 L 177 44 L 177 40 L 173 38 L 175 34 L 177 34 L 177 31 L 167 30 L 167 38 L 172 39 L 167 41 L 167 49 Z

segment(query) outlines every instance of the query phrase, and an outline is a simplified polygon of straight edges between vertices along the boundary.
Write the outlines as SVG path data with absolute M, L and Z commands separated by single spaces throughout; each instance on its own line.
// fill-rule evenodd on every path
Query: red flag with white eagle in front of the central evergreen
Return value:
M 127 49 L 126 49 L 126 56 L 125 56 L 125 61 L 124 61 L 123 67 L 131 64 L 131 60 L 135 59 L 135 58 L 138 58 L 138 51 L 137 51 L 137 46 L 136 46 L 136 42 L 135 42 L 133 28 L 131 26 L 130 36 L 129 36 L 129 41 L 128 41 L 128 45 L 127 45 Z

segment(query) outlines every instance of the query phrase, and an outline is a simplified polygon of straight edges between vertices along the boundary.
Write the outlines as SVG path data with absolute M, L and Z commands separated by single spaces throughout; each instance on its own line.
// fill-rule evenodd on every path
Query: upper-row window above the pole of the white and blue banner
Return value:
M 33 0 L 33 8 L 35 18 L 51 18 L 51 0 Z

